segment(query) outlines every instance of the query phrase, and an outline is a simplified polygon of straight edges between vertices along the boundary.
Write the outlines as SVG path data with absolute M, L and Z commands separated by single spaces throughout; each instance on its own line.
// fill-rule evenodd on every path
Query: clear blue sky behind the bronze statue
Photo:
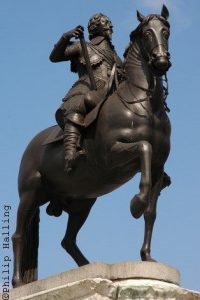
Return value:
M 166 163 L 172 185 L 158 203 L 152 255 L 180 271 L 183 287 L 200 290 L 200 1 L 164 3 L 170 12 L 173 64 L 168 72 L 172 148 Z M 129 33 L 138 24 L 136 10 L 144 15 L 159 13 L 162 4 L 160 0 L 0 0 L 0 215 L 3 205 L 12 206 L 11 234 L 21 156 L 37 132 L 55 124 L 54 112 L 76 78 L 67 63 L 49 61 L 54 43 L 63 32 L 79 24 L 86 27 L 90 16 L 102 12 L 113 22 L 113 42 L 122 57 Z M 138 177 L 101 197 L 93 207 L 78 237 L 91 262 L 140 259 L 144 224 L 129 212 L 137 191 Z M 44 278 L 76 265 L 60 246 L 67 215 L 57 219 L 47 216 L 45 208 L 41 212 L 39 277 Z

